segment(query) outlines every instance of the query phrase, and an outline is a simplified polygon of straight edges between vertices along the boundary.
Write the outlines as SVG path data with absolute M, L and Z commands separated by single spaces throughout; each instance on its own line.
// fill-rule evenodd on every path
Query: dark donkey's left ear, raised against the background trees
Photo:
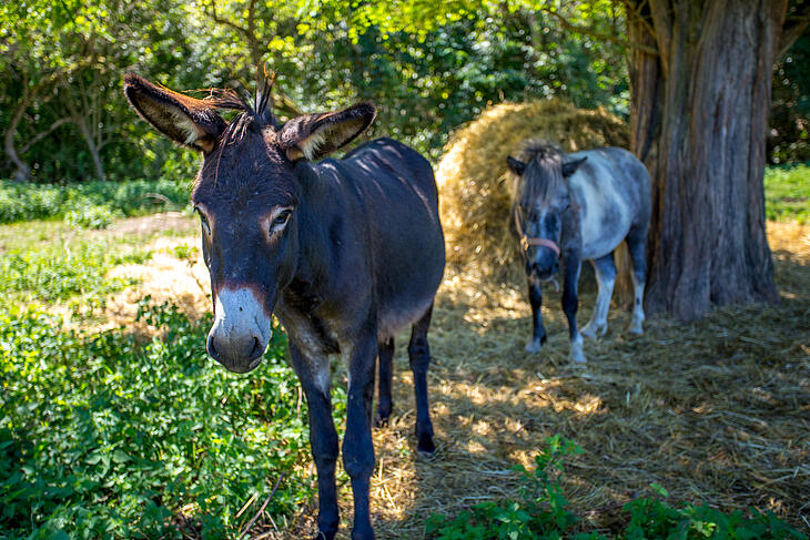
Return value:
M 225 130 L 225 121 L 211 103 L 159 86 L 134 73 L 124 75 L 124 94 L 146 122 L 172 141 L 192 149 L 211 152 Z

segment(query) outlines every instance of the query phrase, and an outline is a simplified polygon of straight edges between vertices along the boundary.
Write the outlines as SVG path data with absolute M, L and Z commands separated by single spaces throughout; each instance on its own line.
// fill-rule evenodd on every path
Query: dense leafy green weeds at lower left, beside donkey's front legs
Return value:
M 271 514 L 310 497 L 296 473 L 305 410 L 282 334 L 240 377 L 206 358 L 210 320 L 145 306 L 142 318 L 165 332 L 145 345 L 123 329 L 68 332 L 36 308 L 0 314 L 3 538 L 181 538 L 170 521 L 180 512 L 223 538 L 282 472 Z

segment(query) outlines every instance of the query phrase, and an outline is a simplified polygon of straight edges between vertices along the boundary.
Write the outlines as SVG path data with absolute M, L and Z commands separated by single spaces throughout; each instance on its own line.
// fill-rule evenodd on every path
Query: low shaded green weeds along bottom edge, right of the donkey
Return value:
M 523 487 L 519 499 L 487 501 L 462 511 L 455 518 L 432 514 L 425 533 L 434 540 L 607 540 L 598 532 L 574 532 L 578 519 L 566 508 L 568 501 L 560 486 L 563 460 L 583 454 L 583 449 L 559 435 L 546 438 L 546 446 L 535 458 L 536 468 L 519 472 Z M 747 518 L 739 510 L 723 513 L 707 505 L 674 508 L 661 498 L 667 491 L 654 483 L 654 498 L 639 498 L 625 505 L 629 521 L 617 540 L 753 540 L 804 539 L 772 512 L 751 509 Z

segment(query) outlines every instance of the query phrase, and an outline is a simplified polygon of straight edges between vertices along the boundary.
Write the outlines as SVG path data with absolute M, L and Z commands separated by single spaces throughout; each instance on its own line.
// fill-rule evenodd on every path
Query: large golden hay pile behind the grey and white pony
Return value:
M 503 277 L 515 259 L 509 235 L 506 156 L 529 137 L 568 152 L 629 146 L 627 125 L 605 110 L 585 111 L 560 100 L 502 103 L 456 131 L 436 170 L 448 261 Z

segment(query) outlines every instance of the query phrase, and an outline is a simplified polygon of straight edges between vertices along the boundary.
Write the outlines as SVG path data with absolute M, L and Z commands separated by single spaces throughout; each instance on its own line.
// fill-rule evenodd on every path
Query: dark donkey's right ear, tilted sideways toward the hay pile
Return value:
M 337 112 L 304 114 L 282 126 L 279 141 L 291 161 L 320 160 L 352 142 L 368 128 L 375 115 L 371 103 Z

